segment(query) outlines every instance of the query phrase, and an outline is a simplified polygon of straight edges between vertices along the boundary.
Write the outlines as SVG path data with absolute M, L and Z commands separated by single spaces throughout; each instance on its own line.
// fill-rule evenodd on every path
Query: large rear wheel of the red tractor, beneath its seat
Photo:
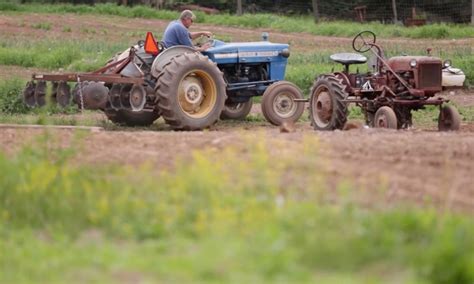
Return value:
M 309 118 L 315 130 L 342 129 L 347 121 L 348 96 L 342 80 L 333 75 L 318 77 L 311 88 Z

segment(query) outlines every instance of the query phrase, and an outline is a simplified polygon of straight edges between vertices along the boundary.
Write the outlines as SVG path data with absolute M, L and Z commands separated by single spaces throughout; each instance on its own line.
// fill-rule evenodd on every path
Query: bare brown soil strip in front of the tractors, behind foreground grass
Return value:
M 0 149 L 12 153 L 43 132 L 0 128 Z M 52 129 L 50 132 L 63 146 L 71 145 L 73 131 Z M 300 155 L 307 137 L 320 141 L 319 154 L 314 157 Z M 429 201 L 474 213 L 472 124 L 464 124 L 456 133 L 377 129 L 316 132 L 308 123 L 298 123 L 293 133 L 280 133 L 278 128 L 266 123 L 245 127 L 217 124 L 211 131 L 202 132 L 103 130 L 87 134 L 78 160 L 90 165 L 112 163 L 133 167 L 151 162 L 159 171 L 172 168 L 178 157 L 189 158 L 194 150 L 232 146 L 242 156 L 251 155 L 251 147 L 246 143 L 252 139 L 264 139 L 276 161 L 283 150 L 290 151 L 296 164 L 308 158 L 319 160 L 319 167 L 314 171 L 326 174 L 329 186 L 349 180 L 363 190 L 386 188 L 388 200 Z M 308 173 L 311 170 L 289 174 L 298 177 Z

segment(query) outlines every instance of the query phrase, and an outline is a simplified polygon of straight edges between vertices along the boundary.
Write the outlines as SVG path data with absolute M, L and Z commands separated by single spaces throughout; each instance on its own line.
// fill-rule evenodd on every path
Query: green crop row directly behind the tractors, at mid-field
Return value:
M 81 45 L 74 41 L 58 41 L 36 42 L 25 46 L 20 43 L 3 42 L 0 44 L 0 65 L 92 71 L 103 66 L 117 51 L 124 49 L 125 47 L 120 47 L 119 43 L 99 44 L 87 41 L 82 42 Z M 406 52 L 414 55 L 425 54 L 419 49 Z M 307 93 L 318 75 L 330 73 L 332 70 L 342 70 L 340 65 L 330 61 L 330 54 L 328 50 L 312 53 L 295 52 L 289 58 L 286 79 L 294 82 Z M 400 54 L 402 52 L 396 45 L 387 48 L 388 56 Z M 436 56 L 451 59 L 455 67 L 461 68 L 466 74 L 466 86 L 474 82 L 474 54 L 471 54 L 470 50 L 452 48 L 447 51 L 437 51 Z M 364 72 L 367 67 L 366 65 L 352 67 L 353 72 L 356 69 Z

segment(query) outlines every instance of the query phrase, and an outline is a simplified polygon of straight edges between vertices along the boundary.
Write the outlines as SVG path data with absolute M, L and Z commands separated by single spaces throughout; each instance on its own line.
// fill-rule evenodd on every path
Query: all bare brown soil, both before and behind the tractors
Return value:
M 34 23 L 50 22 L 53 31 L 32 28 Z M 59 24 L 61 23 L 61 24 Z M 152 26 L 162 32 L 167 22 L 157 20 L 127 19 L 110 21 L 96 16 L 76 15 L 0 15 L 0 37 L 73 38 L 104 36 L 110 39 L 124 37 L 123 41 L 133 43 L 136 31 L 146 31 Z M 73 27 L 64 32 L 62 26 Z M 81 26 L 81 30 L 75 27 Z M 95 34 L 87 30 L 98 31 Z M 216 34 L 232 37 L 235 41 L 257 40 L 260 30 L 244 30 L 197 25 L 195 30 L 212 30 Z M 100 31 L 107 30 L 106 34 Z M 275 42 L 292 43 L 299 51 L 318 47 L 349 46 L 350 39 L 328 38 L 312 35 L 290 35 L 271 33 Z M 394 44 L 408 44 L 404 40 L 391 40 Z M 416 41 L 427 44 L 428 41 Z M 414 44 L 411 40 L 410 44 Z M 430 42 L 430 44 L 433 44 Z M 458 40 L 457 44 L 472 46 L 474 39 Z M 436 41 L 439 48 L 448 48 L 452 41 Z M 31 71 L 17 67 L 0 66 L 0 79 L 29 74 Z M 474 106 L 474 95 L 458 93 L 450 98 L 462 106 Z M 258 112 L 258 107 L 254 112 Z M 161 120 L 158 123 L 163 123 Z M 164 127 L 166 129 L 166 127 Z M 51 130 L 68 145 L 73 137 L 71 130 Z M 20 145 L 29 143 L 43 133 L 39 129 L 0 128 L 0 150 L 12 153 Z M 80 162 L 87 164 L 120 163 L 138 166 L 150 161 L 157 170 L 172 168 L 177 157 L 189 157 L 192 151 L 205 148 L 221 149 L 235 146 L 248 155 L 249 147 L 245 137 L 264 137 L 273 159 L 278 159 L 279 147 L 290 149 L 298 161 L 301 142 L 305 137 L 317 137 L 320 159 L 317 172 L 326 173 L 332 182 L 345 179 L 354 181 L 358 187 L 368 190 L 386 187 L 387 199 L 406 199 L 415 202 L 432 200 L 442 207 L 467 210 L 474 213 L 474 124 L 463 123 L 455 133 L 439 133 L 428 128 L 406 131 L 354 129 L 350 131 L 315 132 L 309 123 L 300 122 L 293 133 L 280 133 L 277 127 L 268 123 L 225 124 L 218 123 L 210 131 L 173 132 L 125 129 L 121 131 L 91 132 L 85 139 Z M 308 158 L 308 157 L 301 157 Z M 309 157 L 313 158 L 313 157 Z M 294 173 L 298 175 L 298 173 Z

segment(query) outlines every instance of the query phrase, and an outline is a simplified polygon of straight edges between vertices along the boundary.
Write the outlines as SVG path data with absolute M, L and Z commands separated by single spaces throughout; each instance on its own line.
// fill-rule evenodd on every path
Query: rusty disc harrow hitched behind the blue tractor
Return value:
M 93 72 L 33 74 L 23 91 L 23 101 L 32 108 L 46 103 L 59 107 L 75 103 L 81 109 L 104 110 L 112 107 L 142 111 L 146 102 L 142 86 L 146 83 L 143 73 L 133 73 L 133 70 L 139 70 L 136 62 L 140 61 L 135 52 L 136 49 L 131 47 L 128 56 Z M 71 84 L 74 83 L 71 91 Z

